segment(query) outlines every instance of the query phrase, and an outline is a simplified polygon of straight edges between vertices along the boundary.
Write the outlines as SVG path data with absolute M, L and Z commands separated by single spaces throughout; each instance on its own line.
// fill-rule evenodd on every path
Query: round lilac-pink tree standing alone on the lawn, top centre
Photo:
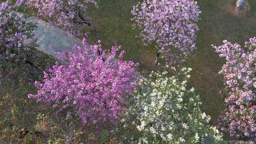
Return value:
M 141 29 L 144 45 L 156 43 L 167 65 L 177 65 L 196 49 L 195 33 L 201 13 L 194 0 L 144 0 L 133 7 L 134 27 Z

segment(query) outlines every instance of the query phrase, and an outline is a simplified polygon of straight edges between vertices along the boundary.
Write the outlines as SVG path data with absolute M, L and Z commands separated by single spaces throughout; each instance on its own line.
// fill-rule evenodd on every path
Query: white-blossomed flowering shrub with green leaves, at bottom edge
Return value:
M 133 124 L 141 132 L 137 144 L 226 144 L 208 125 L 200 97 L 187 88 L 191 70 L 183 68 L 172 77 L 152 72 L 141 80 L 126 111 L 127 117 L 136 117 Z

